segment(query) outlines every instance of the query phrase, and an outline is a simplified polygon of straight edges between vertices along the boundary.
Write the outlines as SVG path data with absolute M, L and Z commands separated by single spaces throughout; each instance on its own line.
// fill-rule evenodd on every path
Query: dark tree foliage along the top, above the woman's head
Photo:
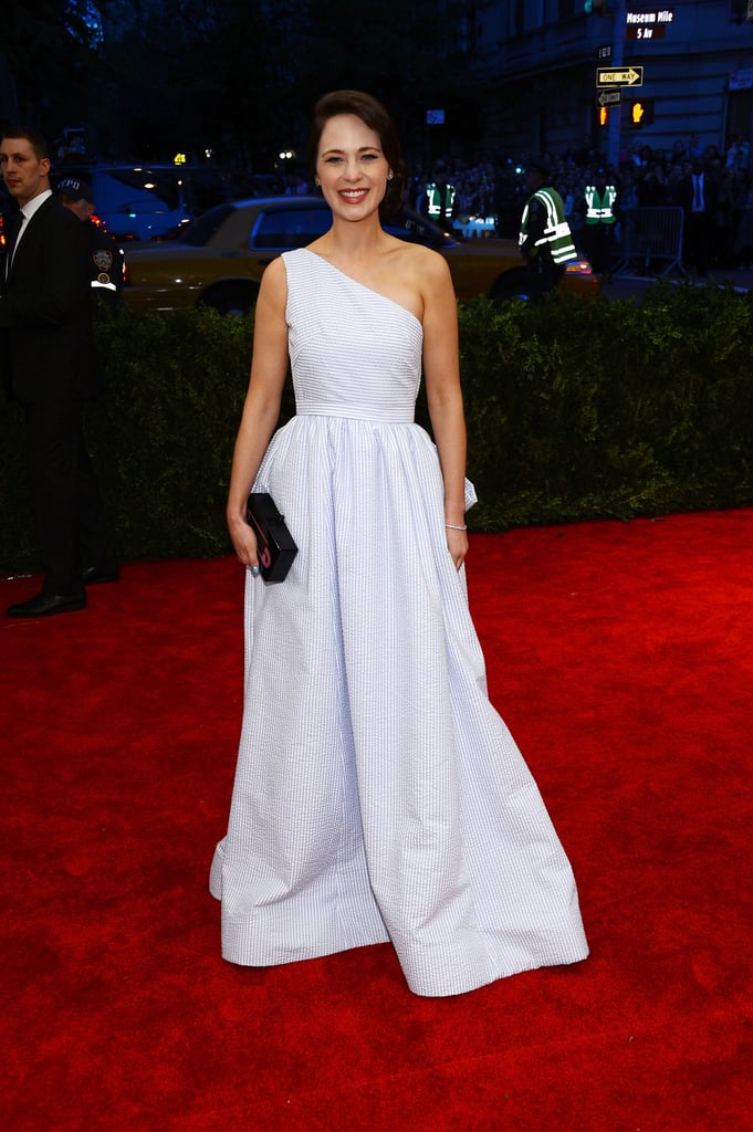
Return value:
M 31 117 L 48 132 L 86 125 L 101 155 L 211 148 L 268 166 L 280 147 L 302 149 L 316 98 L 341 86 L 382 97 L 419 152 L 428 109 L 467 139 L 480 120 L 467 17 L 479 6 L 464 0 L 6 3 L 6 52 Z

